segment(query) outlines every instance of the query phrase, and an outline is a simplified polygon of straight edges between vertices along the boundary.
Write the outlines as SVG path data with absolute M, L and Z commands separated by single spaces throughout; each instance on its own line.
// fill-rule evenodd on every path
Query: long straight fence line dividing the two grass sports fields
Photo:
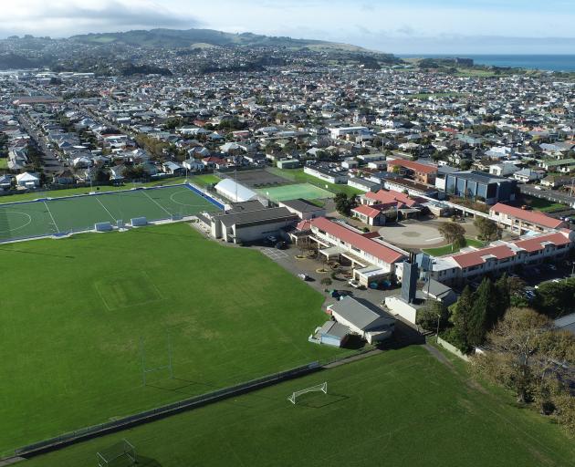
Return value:
M 230 399 L 235 396 L 246 394 L 258 389 L 264 389 L 268 386 L 273 386 L 278 383 L 288 381 L 289 379 L 297 379 L 324 369 L 329 364 L 336 362 L 343 363 L 345 360 L 358 358 L 363 354 L 371 352 L 372 349 L 373 348 L 371 346 L 366 346 L 365 348 L 361 348 L 352 354 L 347 354 L 345 356 L 335 356 L 321 360 L 320 362 L 313 361 L 297 368 L 280 371 L 278 373 L 273 373 L 258 379 L 251 379 L 249 381 L 236 384 L 235 386 L 231 386 L 225 389 L 217 389 L 213 392 L 208 392 L 206 394 L 194 396 L 189 399 L 163 405 L 156 409 L 141 411 L 139 413 L 129 415 L 118 420 L 107 421 L 105 423 L 100 423 L 99 425 L 92 425 L 90 427 L 82 428 L 76 431 L 70 431 L 48 440 L 28 444 L 16 449 L 14 453 L 16 457 L 32 458 L 47 452 L 57 451 L 71 444 L 99 438 L 100 436 L 105 436 L 117 431 L 127 430 L 129 428 L 143 425 L 154 420 L 161 420 L 167 417 L 171 417 L 188 410 L 198 409 L 220 400 Z M 2 459 L 0 459 L 0 461 L 2 461 Z

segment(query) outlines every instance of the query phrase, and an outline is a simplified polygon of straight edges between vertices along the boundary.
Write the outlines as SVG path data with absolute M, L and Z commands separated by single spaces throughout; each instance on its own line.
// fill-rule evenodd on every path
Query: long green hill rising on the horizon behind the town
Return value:
M 72 36 L 84 44 L 127 44 L 140 47 L 193 47 L 205 46 L 246 46 L 246 47 L 306 47 L 312 50 L 339 50 L 344 52 L 368 52 L 365 48 L 336 44 L 321 40 L 292 39 L 291 37 L 259 36 L 252 33 L 231 34 L 213 29 L 152 29 L 150 31 L 128 31 L 125 33 L 103 33 Z

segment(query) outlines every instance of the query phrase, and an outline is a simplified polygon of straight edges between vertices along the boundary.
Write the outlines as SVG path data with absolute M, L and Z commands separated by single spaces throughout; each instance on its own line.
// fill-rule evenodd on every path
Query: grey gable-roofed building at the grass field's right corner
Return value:
M 392 337 L 395 329 L 394 317 L 351 296 L 329 305 L 327 311 L 338 323 L 348 327 L 351 334 L 360 336 L 370 344 Z

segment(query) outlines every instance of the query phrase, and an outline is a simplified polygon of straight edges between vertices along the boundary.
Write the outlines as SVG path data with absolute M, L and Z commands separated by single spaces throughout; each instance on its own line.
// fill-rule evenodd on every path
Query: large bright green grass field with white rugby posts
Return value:
M 308 343 L 323 296 L 187 223 L 0 247 L 0 456 L 346 350 Z M 147 366 L 176 379 L 142 386 Z M 90 464 L 91 465 L 91 464 Z

